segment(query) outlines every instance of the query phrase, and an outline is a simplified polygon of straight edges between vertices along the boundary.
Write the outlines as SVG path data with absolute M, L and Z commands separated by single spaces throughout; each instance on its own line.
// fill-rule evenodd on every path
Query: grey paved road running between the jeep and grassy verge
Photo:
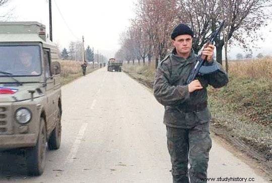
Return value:
M 28 177 L 22 156 L 2 153 L 0 182 L 171 182 L 164 108 L 148 88 L 102 68 L 63 86 L 62 101 L 61 147 L 44 174 Z M 209 177 L 265 182 L 216 141 Z

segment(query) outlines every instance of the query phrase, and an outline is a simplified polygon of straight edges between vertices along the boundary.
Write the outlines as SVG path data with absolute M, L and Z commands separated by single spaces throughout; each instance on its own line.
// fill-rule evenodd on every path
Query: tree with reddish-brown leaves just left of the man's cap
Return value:
M 157 67 L 171 45 L 170 33 L 177 20 L 176 0 L 139 0 L 138 7 L 137 19 L 143 22 L 143 31 L 148 36 L 149 61 L 154 55 Z

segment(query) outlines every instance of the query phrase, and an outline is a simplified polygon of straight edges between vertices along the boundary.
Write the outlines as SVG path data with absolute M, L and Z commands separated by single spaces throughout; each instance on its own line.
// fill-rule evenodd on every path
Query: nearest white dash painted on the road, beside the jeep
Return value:
M 81 126 L 80 131 L 79 131 L 79 133 L 77 135 L 77 138 L 76 138 L 76 140 L 75 140 L 75 142 L 73 144 L 73 147 L 72 147 L 69 155 L 67 156 L 67 159 L 66 159 L 67 163 L 72 163 L 74 161 L 74 159 L 75 159 L 75 157 L 77 155 L 77 152 L 79 150 L 79 146 L 81 144 L 81 141 L 83 139 L 83 136 L 84 136 L 84 133 L 85 133 L 85 130 L 86 130 L 87 126 L 88 126 L 88 123 L 84 123 Z

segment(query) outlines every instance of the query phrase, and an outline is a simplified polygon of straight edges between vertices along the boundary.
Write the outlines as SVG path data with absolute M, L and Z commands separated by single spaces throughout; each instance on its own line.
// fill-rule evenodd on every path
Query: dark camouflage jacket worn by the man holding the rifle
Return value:
M 154 82 L 154 96 L 165 106 L 164 124 L 174 128 L 193 128 L 199 123 L 211 120 L 211 113 L 207 107 L 201 110 L 186 111 L 200 104 L 207 104 L 207 86 L 222 87 L 228 83 L 228 75 L 222 66 L 213 61 L 210 64 L 219 64 L 220 70 L 197 78 L 202 89 L 193 93 L 188 92 L 186 80 L 195 65 L 197 55 L 191 51 L 187 59 L 176 55 L 175 49 L 162 60 L 157 68 Z M 208 65 L 207 62 L 205 62 Z

